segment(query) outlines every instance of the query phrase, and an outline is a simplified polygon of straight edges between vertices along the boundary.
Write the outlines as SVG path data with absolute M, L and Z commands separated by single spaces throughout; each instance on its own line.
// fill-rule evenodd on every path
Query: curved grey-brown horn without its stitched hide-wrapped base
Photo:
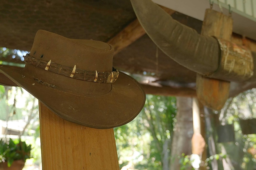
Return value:
M 199 35 L 173 20 L 151 0 L 131 0 L 131 3 L 148 36 L 167 56 L 203 75 L 217 70 L 220 49 L 215 38 Z

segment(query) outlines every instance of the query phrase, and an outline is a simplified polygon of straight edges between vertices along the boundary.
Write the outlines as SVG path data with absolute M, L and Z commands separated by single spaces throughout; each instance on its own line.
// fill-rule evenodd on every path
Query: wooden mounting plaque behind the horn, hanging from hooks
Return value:
M 206 9 L 201 35 L 215 36 L 230 41 L 233 20 L 212 9 Z M 206 78 L 197 74 L 197 97 L 200 102 L 214 110 L 220 110 L 229 96 L 230 82 Z

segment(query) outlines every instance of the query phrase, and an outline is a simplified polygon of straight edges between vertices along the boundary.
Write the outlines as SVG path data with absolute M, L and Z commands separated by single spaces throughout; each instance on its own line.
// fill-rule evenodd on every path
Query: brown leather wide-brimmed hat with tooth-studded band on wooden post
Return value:
M 113 69 L 113 46 L 39 30 L 24 69 L 0 72 L 70 122 L 107 129 L 130 122 L 146 97 L 141 85 Z

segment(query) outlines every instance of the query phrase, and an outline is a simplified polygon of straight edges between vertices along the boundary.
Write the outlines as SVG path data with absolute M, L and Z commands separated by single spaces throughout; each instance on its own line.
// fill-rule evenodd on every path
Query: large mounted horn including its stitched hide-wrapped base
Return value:
M 152 41 L 182 66 L 206 77 L 241 82 L 255 79 L 256 54 L 233 43 L 199 35 L 151 0 L 131 0 L 134 12 Z

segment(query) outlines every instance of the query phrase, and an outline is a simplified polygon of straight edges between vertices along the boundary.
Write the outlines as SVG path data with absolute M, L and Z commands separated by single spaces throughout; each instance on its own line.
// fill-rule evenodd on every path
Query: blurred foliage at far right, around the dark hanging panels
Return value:
M 256 118 L 256 89 L 240 93 L 235 98 L 230 98 L 224 108 L 219 112 L 222 124 L 234 124 L 235 141 L 218 144 L 223 146 L 234 169 L 254 169 L 256 160 L 248 150 L 256 146 L 256 135 L 244 135 L 240 127 L 240 119 Z M 219 149 L 221 150 L 221 149 Z

